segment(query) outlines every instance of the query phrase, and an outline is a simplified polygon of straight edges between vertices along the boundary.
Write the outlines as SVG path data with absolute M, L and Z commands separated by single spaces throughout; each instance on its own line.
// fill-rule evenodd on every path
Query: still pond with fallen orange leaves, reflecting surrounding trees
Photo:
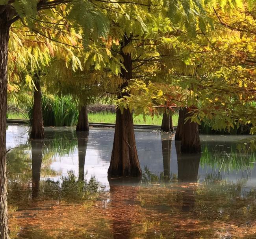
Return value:
M 173 135 L 135 130 L 141 180 L 108 179 L 114 130 L 9 125 L 9 226 L 17 239 L 256 238 L 251 136 L 201 135 L 181 154 Z

